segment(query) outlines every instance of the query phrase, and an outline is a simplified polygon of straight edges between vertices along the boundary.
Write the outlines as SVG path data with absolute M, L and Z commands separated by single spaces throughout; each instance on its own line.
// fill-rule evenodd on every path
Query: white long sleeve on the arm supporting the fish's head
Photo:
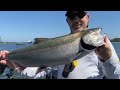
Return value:
M 120 61 L 117 56 L 117 53 L 110 43 L 112 49 L 112 56 L 105 62 L 101 62 L 105 71 L 105 76 L 108 79 L 120 79 Z

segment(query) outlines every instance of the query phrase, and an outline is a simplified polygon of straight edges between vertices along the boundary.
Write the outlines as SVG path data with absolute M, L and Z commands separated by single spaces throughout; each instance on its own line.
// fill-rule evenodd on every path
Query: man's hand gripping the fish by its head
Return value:
M 108 43 L 108 37 L 105 36 L 104 44 L 96 49 L 96 54 L 100 57 L 100 60 L 105 62 L 112 56 L 112 50 Z

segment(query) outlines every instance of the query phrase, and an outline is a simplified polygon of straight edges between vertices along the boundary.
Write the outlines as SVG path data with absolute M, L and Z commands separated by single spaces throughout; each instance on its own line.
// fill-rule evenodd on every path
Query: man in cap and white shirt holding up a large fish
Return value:
M 89 14 L 87 12 L 67 11 L 66 17 L 71 33 L 87 29 L 89 22 Z M 6 51 L 1 51 L 0 63 L 14 68 L 10 62 L 4 60 L 7 53 Z M 22 67 L 19 64 L 18 66 L 19 71 L 21 70 L 19 73 L 30 78 L 50 75 L 48 73 L 52 71 L 50 67 L 41 71 L 37 67 Z M 57 79 L 102 79 L 104 76 L 108 79 L 120 78 L 119 58 L 107 36 L 104 38 L 103 46 L 98 47 L 95 51 L 82 58 L 76 58 L 70 64 L 59 65 L 57 69 Z

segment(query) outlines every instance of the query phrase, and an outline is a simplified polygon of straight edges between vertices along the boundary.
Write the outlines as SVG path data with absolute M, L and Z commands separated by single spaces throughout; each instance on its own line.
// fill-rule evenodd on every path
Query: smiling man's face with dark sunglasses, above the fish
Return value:
M 84 12 L 73 11 L 68 14 L 67 22 L 70 27 L 71 33 L 82 31 L 87 28 L 89 15 Z

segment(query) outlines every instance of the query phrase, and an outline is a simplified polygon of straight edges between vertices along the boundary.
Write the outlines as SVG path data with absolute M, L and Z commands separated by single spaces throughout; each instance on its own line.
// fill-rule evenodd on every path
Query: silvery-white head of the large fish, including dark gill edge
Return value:
M 94 49 L 104 44 L 104 35 L 101 34 L 102 28 L 88 29 L 81 37 L 82 47 L 86 46 Z M 84 44 L 83 44 L 84 43 Z

